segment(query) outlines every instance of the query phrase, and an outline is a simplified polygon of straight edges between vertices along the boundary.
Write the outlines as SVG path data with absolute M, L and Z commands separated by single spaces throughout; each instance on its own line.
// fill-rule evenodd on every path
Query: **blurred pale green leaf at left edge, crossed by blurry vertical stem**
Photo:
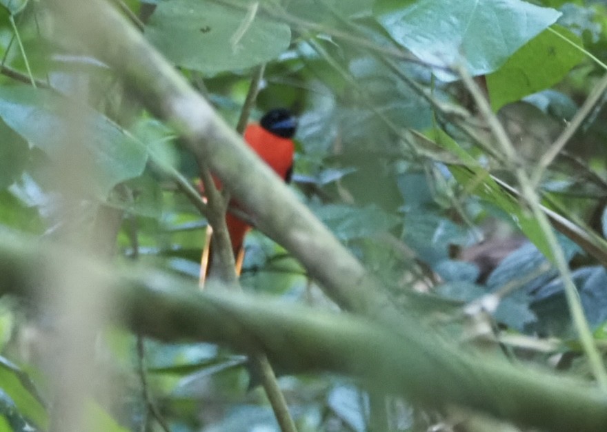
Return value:
M 70 130 L 70 125 L 60 114 L 65 103 L 61 96 L 47 90 L 0 88 L 0 118 L 55 163 L 66 157 L 62 133 Z M 94 163 L 88 187 L 92 194 L 104 199 L 115 185 L 143 172 L 147 150 L 101 114 L 83 107 L 83 116 L 83 127 L 90 134 L 83 145 Z

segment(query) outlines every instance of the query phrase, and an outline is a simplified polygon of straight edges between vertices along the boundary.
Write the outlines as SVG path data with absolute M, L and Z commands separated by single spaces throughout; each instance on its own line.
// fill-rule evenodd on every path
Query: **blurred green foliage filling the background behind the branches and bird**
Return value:
M 43 237 L 61 229 L 88 232 L 97 209 L 109 205 L 124 211 L 119 265 L 137 259 L 197 278 L 206 221 L 157 168 L 177 169 L 192 182 L 197 177 L 170 125 L 142 110 L 106 65 L 57 44 L 39 2 L 1 3 L 3 65 L 21 72 L 0 76 L 1 229 Z M 492 108 L 522 167 L 533 171 L 605 73 L 603 2 L 129 0 L 123 6 L 228 123 L 238 119 L 251 68 L 268 62 L 252 121 L 272 107 L 297 112 L 292 188 L 397 300 L 411 291 L 453 300 L 451 309 L 429 307 L 421 315 L 461 334 L 470 325 L 464 312 L 495 294 L 497 305 L 483 309 L 482 319 L 498 340 L 515 334 L 527 342 L 504 352 L 584 375 L 563 285 L 546 258 L 552 251 L 528 208 L 490 178 L 513 181 L 513 167 L 478 126 L 451 68 L 486 74 Z M 57 112 L 57 100 L 76 88 L 88 92 L 89 105 L 80 109 L 94 133 L 83 148 L 94 165 L 81 182 L 88 199 L 69 209 L 79 226 L 66 227 L 53 171 L 70 163 L 62 147 L 69 119 Z M 601 96 L 538 186 L 544 203 L 600 235 L 607 220 L 604 102 Z M 439 115 L 437 107 L 452 115 Z M 461 122 L 484 133 L 486 145 L 462 133 Z M 410 140 L 409 130 L 434 146 Z M 452 165 L 443 154 L 468 166 Z M 604 346 L 605 269 L 574 241 L 559 241 Z M 254 232 L 246 251 L 246 290 L 335 308 L 279 245 Z M 52 355 L 52 325 L 29 310 L 9 300 L 0 308 L 0 431 L 48 424 L 49 371 L 41 359 Z M 548 337 L 553 349 L 535 349 L 537 338 Z M 263 391 L 250 388 L 246 358 L 210 344 L 144 345 L 149 397 L 172 431 L 277 428 Z M 87 415 L 98 430 L 161 430 L 142 396 L 136 336 L 108 330 L 99 351 L 100 367 L 122 390 L 116 400 L 90 401 Z M 572 357 L 579 361 L 566 360 Z M 369 395 L 358 383 L 326 375 L 285 376 L 280 383 L 299 430 L 368 429 Z M 394 430 L 426 430 L 436 420 L 434 413 L 415 416 L 397 398 L 388 405 Z

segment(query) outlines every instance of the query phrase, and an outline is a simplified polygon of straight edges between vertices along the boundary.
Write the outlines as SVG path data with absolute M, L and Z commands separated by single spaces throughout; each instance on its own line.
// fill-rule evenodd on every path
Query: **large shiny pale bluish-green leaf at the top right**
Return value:
M 374 12 L 392 38 L 419 59 L 441 67 L 463 63 L 472 75 L 497 70 L 560 15 L 520 0 L 379 0 Z

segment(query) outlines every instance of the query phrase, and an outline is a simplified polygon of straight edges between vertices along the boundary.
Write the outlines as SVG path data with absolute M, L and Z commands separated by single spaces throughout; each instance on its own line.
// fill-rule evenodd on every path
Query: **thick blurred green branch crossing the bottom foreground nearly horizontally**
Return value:
M 0 294 L 37 293 L 43 274 L 31 269 L 66 259 L 108 287 L 113 319 L 145 336 L 205 340 L 244 352 L 261 347 L 286 371 L 342 373 L 426 407 L 455 404 L 539 429 L 590 432 L 607 424 L 607 395 L 587 382 L 468 356 L 418 329 L 226 290 L 201 293 L 192 282 L 160 271 L 121 271 L 6 233 L 0 233 Z

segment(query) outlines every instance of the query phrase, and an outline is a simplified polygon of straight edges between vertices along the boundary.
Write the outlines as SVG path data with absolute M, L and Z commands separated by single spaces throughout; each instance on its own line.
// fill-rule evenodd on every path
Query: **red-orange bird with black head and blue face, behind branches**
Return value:
M 244 140 L 255 150 L 257 155 L 287 183 L 291 180 L 293 169 L 293 156 L 295 144 L 292 141 L 297 130 L 297 119 L 284 108 L 276 108 L 268 111 L 257 123 L 251 123 L 246 127 Z M 230 206 L 239 207 L 232 201 Z M 246 209 L 243 209 L 246 212 Z M 234 216 L 226 214 L 226 225 L 230 234 L 232 251 L 236 260 L 236 273 L 240 275 L 244 259 L 243 242 L 244 237 L 251 228 L 246 222 Z M 202 251 L 200 265 L 200 285 L 204 284 L 211 268 L 212 229 L 207 228 L 206 241 Z

